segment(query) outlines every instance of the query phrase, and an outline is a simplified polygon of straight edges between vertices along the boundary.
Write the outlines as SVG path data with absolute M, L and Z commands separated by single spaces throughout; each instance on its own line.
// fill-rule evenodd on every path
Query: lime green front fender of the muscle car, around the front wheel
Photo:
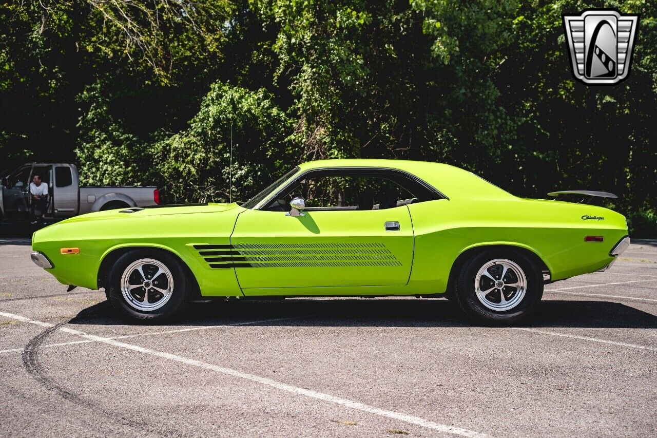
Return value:
M 185 207 L 187 208 L 187 207 Z M 190 207 L 192 208 L 192 207 Z M 204 296 L 239 296 L 233 269 L 213 269 L 193 245 L 229 245 L 238 208 L 208 212 L 139 216 L 139 213 L 91 213 L 53 224 L 34 233 L 32 248 L 45 254 L 47 270 L 65 284 L 99 287 L 101 263 L 118 249 L 162 249 L 177 256 L 196 278 Z M 109 213 L 109 214 L 104 214 Z M 60 254 L 78 247 L 79 253 Z

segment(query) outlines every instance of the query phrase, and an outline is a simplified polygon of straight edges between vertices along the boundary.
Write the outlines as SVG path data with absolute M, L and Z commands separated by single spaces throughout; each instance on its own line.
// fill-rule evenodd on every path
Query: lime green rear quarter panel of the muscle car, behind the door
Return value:
M 591 205 L 516 197 L 441 199 L 409 205 L 415 253 L 409 286 L 430 293 L 447 287 L 456 258 L 472 247 L 511 245 L 539 256 L 552 280 L 603 268 L 609 251 L 627 235 L 625 218 Z M 604 220 L 583 220 L 581 216 Z M 602 242 L 585 242 L 600 235 Z

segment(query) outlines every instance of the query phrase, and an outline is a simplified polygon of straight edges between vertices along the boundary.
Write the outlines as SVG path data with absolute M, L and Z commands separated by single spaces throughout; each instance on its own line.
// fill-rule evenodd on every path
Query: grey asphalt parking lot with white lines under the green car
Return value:
M 546 286 L 530 324 L 443 299 L 193 304 L 118 320 L 0 238 L 0 435 L 657 435 L 657 241 Z

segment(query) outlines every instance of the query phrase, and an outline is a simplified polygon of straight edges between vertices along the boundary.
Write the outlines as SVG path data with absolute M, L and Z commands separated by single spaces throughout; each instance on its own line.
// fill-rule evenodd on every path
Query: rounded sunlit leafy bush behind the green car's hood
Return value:
M 281 168 L 298 162 L 288 141 L 292 131 L 292 120 L 264 89 L 217 82 L 189 128 L 154 145 L 154 176 L 170 199 L 227 202 L 232 171 L 232 199 L 247 201 L 254 190 L 275 180 Z

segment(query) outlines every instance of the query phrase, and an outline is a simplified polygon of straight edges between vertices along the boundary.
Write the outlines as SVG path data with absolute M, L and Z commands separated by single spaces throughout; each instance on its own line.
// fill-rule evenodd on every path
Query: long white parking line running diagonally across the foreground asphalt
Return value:
M 5 318 L 12 318 L 14 320 L 18 320 L 22 322 L 27 322 L 29 324 L 36 324 L 37 326 L 41 326 L 41 327 L 48 327 L 48 328 L 53 327 L 53 324 L 48 324 L 47 322 L 30 320 L 30 318 L 26 318 L 24 316 L 15 315 L 7 312 L 0 312 L 0 316 L 4 316 Z M 453 435 L 461 435 L 463 437 L 490 438 L 489 435 L 486 435 L 485 433 L 479 433 L 476 431 L 463 429 L 461 427 L 448 426 L 447 424 L 440 424 L 429 420 L 424 420 L 424 418 L 403 414 L 401 412 L 376 408 L 375 406 L 370 406 L 369 404 L 352 401 L 348 399 L 342 399 L 340 397 L 334 397 L 333 395 L 330 394 L 320 393 L 317 391 L 313 391 L 311 389 L 296 387 L 294 385 L 288 385 L 287 383 L 282 383 L 279 381 L 268 379 L 267 377 L 255 376 L 254 374 L 244 373 L 241 371 L 233 370 L 231 368 L 224 368 L 222 366 L 209 364 L 208 362 L 202 362 L 201 360 L 190 359 L 190 358 L 185 358 L 183 356 L 178 356 L 177 354 L 164 353 L 162 351 L 146 349 L 144 347 L 139 347 L 139 345 L 128 344 L 128 343 L 116 341 L 115 339 L 109 339 L 106 337 L 101 337 L 96 335 L 89 335 L 88 333 L 84 333 L 83 331 L 78 331 L 67 327 L 62 327 L 60 328 L 60 330 L 66 333 L 76 334 L 85 339 L 89 339 L 90 341 L 113 345 L 114 347 L 120 347 L 127 350 L 137 351 L 139 353 L 149 354 L 150 356 L 156 356 L 163 359 L 174 360 L 175 362 L 181 362 L 183 364 L 195 366 L 196 368 L 202 368 L 204 370 L 214 371 L 221 374 L 227 374 L 229 376 L 234 376 L 234 377 L 240 377 L 242 379 L 254 381 L 256 383 L 261 383 L 262 385 L 281 389 L 282 391 L 287 391 L 288 393 L 292 393 L 296 395 L 305 395 L 306 397 L 311 397 L 313 399 L 318 399 L 334 404 L 340 404 L 347 408 L 360 410 L 362 412 L 368 412 L 369 414 L 374 414 L 382 417 L 392 418 L 397 421 L 414 424 L 415 426 L 426 427 L 428 429 L 433 429 L 443 433 L 451 433 Z

